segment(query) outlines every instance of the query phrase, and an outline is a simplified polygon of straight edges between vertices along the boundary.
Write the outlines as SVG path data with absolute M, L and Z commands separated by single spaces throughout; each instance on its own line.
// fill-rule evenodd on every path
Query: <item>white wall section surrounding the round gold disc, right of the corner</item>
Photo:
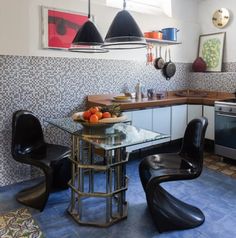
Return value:
M 223 28 L 218 29 L 212 24 L 212 14 L 219 8 L 224 7 L 230 10 L 231 20 L 229 24 Z M 236 62 L 236 1 L 235 0 L 204 0 L 199 4 L 199 22 L 201 24 L 200 32 L 202 34 L 214 32 L 226 32 L 224 62 Z

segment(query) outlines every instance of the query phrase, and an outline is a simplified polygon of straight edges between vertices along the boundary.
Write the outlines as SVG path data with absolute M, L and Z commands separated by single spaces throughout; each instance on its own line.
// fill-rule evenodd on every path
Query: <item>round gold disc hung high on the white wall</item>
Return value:
M 229 19 L 229 10 L 226 8 L 220 8 L 214 12 L 212 16 L 212 23 L 217 28 L 223 28 L 228 24 Z

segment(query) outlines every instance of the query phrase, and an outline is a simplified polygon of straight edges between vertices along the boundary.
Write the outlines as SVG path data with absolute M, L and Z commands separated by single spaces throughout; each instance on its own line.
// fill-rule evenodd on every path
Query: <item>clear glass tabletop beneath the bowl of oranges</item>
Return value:
M 83 127 L 70 117 L 47 120 L 47 122 L 104 150 L 114 150 L 169 137 L 127 123 Z

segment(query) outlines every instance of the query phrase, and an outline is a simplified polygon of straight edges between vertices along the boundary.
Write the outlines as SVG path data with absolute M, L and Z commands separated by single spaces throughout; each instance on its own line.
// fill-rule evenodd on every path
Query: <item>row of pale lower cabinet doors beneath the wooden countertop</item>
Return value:
M 135 145 L 127 148 L 127 151 L 141 149 L 143 147 L 161 144 L 170 140 L 181 139 L 187 123 L 196 117 L 204 115 L 208 119 L 206 138 L 214 140 L 214 107 L 203 105 L 175 105 L 124 112 L 132 120 L 132 125 L 151 131 L 170 135 L 170 138 L 156 142 Z

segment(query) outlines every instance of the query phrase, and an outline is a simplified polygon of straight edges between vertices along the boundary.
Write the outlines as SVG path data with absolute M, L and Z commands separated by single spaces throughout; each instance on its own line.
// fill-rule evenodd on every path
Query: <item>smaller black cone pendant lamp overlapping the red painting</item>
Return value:
M 78 30 L 69 50 L 81 53 L 106 53 L 108 50 L 101 48 L 103 43 L 100 33 L 90 20 L 90 0 L 88 0 L 88 21 Z

